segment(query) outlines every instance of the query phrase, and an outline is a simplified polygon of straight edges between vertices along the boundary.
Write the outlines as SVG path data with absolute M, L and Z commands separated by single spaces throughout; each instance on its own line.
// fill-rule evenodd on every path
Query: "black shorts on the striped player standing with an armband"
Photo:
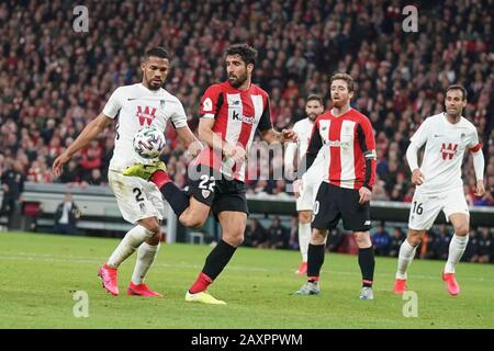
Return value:
M 359 204 L 359 191 L 322 182 L 314 203 L 312 227 L 334 229 L 343 218 L 344 228 L 367 231 L 371 227 L 370 204 Z

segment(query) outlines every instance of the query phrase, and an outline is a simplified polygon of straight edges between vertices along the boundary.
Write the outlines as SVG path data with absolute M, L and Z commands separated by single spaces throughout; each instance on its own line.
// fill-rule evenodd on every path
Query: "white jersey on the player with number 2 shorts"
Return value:
M 133 140 L 137 132 L 154 124 L 165 133 L 167 122 L 175 128 L 187 126 L 182 103 L 165 89 L 149 90 L 142 83 L 117 88 L 106 102 L 103 114 L 117 118 L 115 148 L 110 169 L 122 171 L 139 161 Z

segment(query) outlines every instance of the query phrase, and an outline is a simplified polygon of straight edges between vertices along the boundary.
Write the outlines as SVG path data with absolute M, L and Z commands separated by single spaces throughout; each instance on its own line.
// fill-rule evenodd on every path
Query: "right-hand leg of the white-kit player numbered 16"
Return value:
M 446 218 L 451 222 L 454 234 L 449 242 L 448 261 L 446 262 L 442 280 L 446 282 L 448 292 L 451 295 L 460 293 L 460 285 L 454 278 L 454 268 L 460 262 L 467 245 L 469 242 L 470 215 L 467 201 L 462 190 L 453 192 L 447 196 L 445 205 Z

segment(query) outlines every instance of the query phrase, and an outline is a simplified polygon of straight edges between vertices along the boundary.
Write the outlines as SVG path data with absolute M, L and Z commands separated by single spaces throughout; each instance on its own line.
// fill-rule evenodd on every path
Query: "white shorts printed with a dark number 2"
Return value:
M 164 218 L 164 200 L 154 183 L 114 170 L 108 171 L 108 181 L 125 220 L 135 224 L 149 217 Z

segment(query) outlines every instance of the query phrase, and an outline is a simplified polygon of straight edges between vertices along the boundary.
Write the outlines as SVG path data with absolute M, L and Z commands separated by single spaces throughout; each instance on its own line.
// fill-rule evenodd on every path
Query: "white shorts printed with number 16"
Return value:
M 444 212 L 446 220 L 454 213 L 470 215 L 463 189 L 450 191 L 441 195 L 426 195 L 415 192 L 409 210 L 408 228 L 428 230 L 434 225 L 439 212 Z

